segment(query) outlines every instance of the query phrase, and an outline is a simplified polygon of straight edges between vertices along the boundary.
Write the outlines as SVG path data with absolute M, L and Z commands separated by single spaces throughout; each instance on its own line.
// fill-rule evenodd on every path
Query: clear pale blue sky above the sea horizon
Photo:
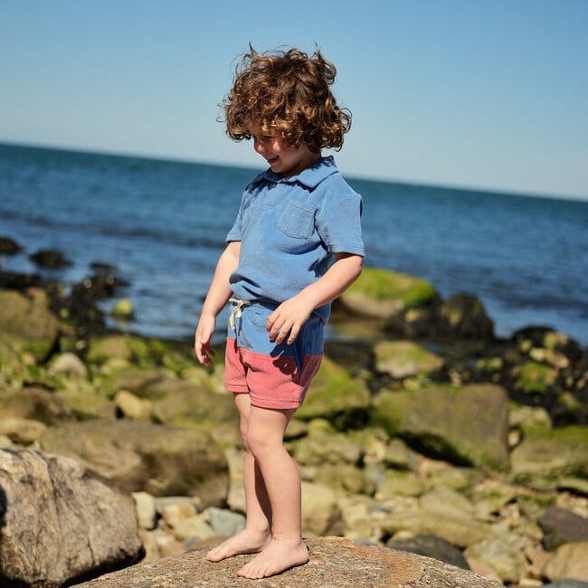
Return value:
M 588 0 L 0 0 L 0 142 L 261 167 L 249 42 L 335 62 L 344 175 L 588 198 Z

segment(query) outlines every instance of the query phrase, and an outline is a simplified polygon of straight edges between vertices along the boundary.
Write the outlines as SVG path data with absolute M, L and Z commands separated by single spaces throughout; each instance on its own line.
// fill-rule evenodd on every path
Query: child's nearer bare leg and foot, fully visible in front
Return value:
M 273 514 L 271 541 L 237 574 L 264 578 L 308 562 L 302 541 L 300 478 L 296 464 L 283 446 L 283 436 L 294 413 L 251 406 L 247 444 L 259 464 Z

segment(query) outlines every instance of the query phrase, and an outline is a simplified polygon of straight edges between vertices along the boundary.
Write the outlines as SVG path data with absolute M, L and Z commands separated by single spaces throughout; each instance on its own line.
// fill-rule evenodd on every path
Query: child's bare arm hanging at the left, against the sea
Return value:
M 203 365 L 211 365 L 213 362 L 211 356 L 215 354 L 210 346 L 210 339 L 213 337 L 216 317 L 231 297 L 229 277 L 239 265 L 240 251 L 241 242 L 233 241 L 226 246 L 216 263 L 213 281 L 208 289 L 208 294 L 206 294 L 206 299 L 204 299 L 202 313 L 194 335 L 194 351 L 198 361 Z

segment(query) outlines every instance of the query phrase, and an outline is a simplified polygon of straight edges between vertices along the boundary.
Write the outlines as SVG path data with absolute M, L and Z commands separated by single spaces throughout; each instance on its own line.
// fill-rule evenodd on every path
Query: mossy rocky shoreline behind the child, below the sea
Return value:
M 0 240 L 1 254 L 9 242 Z M 116 269 L 92 270 L 69 291 L 0 271 L 2 585 L 65 585 L 138 561 L 175 561 L 244 521 L 222 349 L 204 368 L 190 342 L 107 329 L 96 302 L 116 297 Z M 372 268 L 337 301 L 332 325 L 337 337 L 288 431 L 304 532 L 318 551 L 338 536 L 431 556 L 497 585 L 588 586 L 586 350 L 545 327 L 498 339 L 475 296 L 443 300 L 425 280 Z M 53 469 L 33 467 L 33 456 Z M 54 472 L 74 467 L 47 456 L 132 497 L 140 540 L 118 560 L 104 545 L 99 562 L 94 547 L 76 574 L 39 583 L 38 570 L 34 579 L 14 565 L 23 549 L 14 547 L 9 565 L 6 536 L 26 536 L 11 504 L 40 496 L 31 472 L 49 472 L 54 496 L 55 479 L 64 479 Z M 59 567 L 45 556 L 47 570 Z

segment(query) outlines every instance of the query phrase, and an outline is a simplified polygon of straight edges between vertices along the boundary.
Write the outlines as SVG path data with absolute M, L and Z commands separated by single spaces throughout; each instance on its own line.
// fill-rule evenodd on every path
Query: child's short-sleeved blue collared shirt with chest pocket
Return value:
M 280 303 L 323 276 L 335 253 L 364 256 L 361 212 L 361 196 L 332 156 L 299 175 L 282 178 L 270 169 L 257 175 L 226 238 L 241 242 L 233 294 Z M 315 312 L 326 322 L 330 303 Z

